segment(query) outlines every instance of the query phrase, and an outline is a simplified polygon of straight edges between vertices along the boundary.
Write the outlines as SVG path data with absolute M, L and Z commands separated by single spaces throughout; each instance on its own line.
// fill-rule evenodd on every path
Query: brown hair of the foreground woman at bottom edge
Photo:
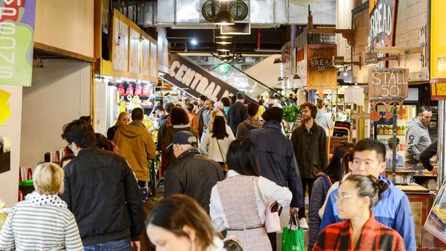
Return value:
M 195 230 L 198 245 L 203 250 L 212 244 L 215 231 L 211 218 L 198 202 L 180 194 L 171 195 L 156 203 L 145 221 L 146 227 L 150 224 L 164 228 L 177 237 L 186 238 L 188 235 L 183 227 L 189 226 Z

